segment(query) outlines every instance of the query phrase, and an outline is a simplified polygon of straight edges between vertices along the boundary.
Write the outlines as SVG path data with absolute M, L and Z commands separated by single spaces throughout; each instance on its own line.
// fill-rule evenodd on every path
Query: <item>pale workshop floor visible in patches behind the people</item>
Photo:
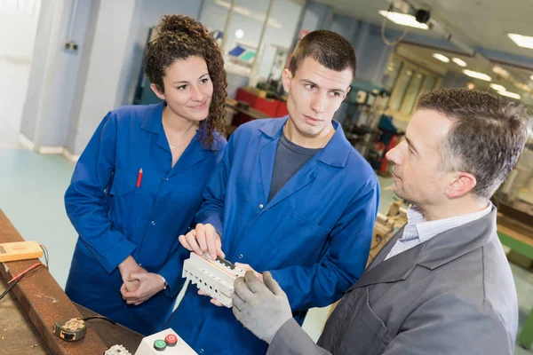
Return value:
M 17 134 L 4 130 L 4 127 L 0 122 L 0 209 L 26 240 L 46 245 L 50 251 L 52 275 L 64 287 L 76 243 L 76 231 L 65 214 L 63 194 L 74 163 L 60 155 L 41 155 L 15 149 L 18 147 Z M 390 180 L 380 178 L 380 184 L 379 210 L 385 213 L 394 193 L 388 187 Z M 515 265 L 512 268 L 522 325 L 533 307 L 533 273 Z M 328 313 L 329 307 L 314 309 L 304 323 L 304 328 L 315 340 L 322 332 Z M 531 355 L 533 350 L 517 347 L 515 354 Z

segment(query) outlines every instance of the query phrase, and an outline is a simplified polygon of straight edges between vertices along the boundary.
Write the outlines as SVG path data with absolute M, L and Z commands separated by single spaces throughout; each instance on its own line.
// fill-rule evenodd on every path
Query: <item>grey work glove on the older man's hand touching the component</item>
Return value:
M 252 271 L 236 279 L 233 312 L 244 327 L 270 343 L 282 325 L 292 318 L 292 312 L 287 295 L 270 272 L 263 273 L 263 282 Z

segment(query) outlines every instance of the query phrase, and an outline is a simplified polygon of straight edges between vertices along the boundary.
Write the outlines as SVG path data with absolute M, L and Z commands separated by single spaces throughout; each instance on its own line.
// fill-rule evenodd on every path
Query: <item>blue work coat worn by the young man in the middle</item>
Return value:
M 257 120 L 235 130 L 204 192 L 196 222 L 222 232 L 231 262 L 270 271 L 298 321 L 331 304 L 361 276 L 378 213 L 378 179 L 346 140 L 333 138 L 268 201 L 274 157 L 287 118 Z M 205 354 L 261 354 L 267 343 L 232 311 L 189 286 L 165 327 Z

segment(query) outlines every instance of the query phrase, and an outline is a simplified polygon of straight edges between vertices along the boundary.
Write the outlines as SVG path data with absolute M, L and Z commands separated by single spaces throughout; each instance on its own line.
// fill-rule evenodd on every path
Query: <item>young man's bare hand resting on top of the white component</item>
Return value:
M 224 252 L 222 252 L 220 236 L 215 231 L 215 227 L 210 224 L 197 224 L 195 229 L 186 235 L 180 235 L 179 242 L 184 248 L 194 251 L 199 256 L 203 256 L 204 253 L 209 253 L 213 260 L 217 256 L 225 256 Z

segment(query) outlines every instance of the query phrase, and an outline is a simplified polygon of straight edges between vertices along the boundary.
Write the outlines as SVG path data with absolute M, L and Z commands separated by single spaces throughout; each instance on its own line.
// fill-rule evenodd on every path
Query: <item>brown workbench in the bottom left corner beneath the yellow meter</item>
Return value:
M 0 243 L 24 241 L 0 209 Z M 7 280 L 38 259 L 0 263 L 0 294 Z M 53 335 L 52 325 L 63 319 L 94 316 L 96 313 L 73 304 L 44 267 L 28 272 L 12 291 L 0 300 L 0 355 L 103 354 L 115 344 L 135 353 L 142 335 L 106 320 L 93 319 L 84 339 L 66 342 Z

